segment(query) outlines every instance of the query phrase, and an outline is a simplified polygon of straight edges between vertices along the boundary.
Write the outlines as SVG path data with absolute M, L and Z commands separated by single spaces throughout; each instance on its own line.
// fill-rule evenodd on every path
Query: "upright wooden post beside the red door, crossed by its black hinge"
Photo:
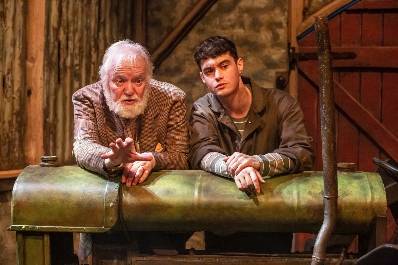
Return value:
M 289 35 L 290 48 L 297 49 L 297 28 L 303 20 L 304 0 L 289 0 Z M 298 95 L 298 71 L 297 66 L 290 70 L 289 94 L 297 99 Z

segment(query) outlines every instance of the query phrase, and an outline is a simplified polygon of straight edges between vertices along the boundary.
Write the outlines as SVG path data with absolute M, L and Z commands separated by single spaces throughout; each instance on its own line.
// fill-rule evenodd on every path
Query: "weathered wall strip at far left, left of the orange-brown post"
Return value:
M 26 2 L 0 1 L 0 170 L 24 166 Z

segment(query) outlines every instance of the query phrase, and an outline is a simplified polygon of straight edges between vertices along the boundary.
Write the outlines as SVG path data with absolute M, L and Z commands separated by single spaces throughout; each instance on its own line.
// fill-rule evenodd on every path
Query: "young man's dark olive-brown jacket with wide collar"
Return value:
M 200 169 L 209 152 L 229 156 L 237 151 L 250 156 L 277 152 L 295 162 L 291 173 L 311 170 L 312 137 L 307 134 L 298 102 L 281 90 L 260 88 L 248 77 L 242 76 L 242 81 L 252 87 L 252 106 L 242 137 L 217 96 L 209 93 L 193 103 L 188 127 L 192 168 Z

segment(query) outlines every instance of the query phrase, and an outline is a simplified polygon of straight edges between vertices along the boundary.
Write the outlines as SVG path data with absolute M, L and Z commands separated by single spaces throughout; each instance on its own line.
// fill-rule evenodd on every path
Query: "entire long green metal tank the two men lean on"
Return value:
M 127 230 L 318 232 L 324 218 L 322 171 L 282 175 L 239 191 L 231 179 L 205 171 L 157 171 L 126 187 L 77 167 L 29 166 L 12 194 L 10 230 L 104 232 Z M 380 175 L 338 174 L 334 233 L 368 233 L 386 215 Z

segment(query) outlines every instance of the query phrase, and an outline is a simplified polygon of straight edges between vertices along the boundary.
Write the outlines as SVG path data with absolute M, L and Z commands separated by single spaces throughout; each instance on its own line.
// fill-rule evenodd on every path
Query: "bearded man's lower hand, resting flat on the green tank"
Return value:
M 149 155 L 152 156 L 151 154 Z M 155 159 L 127 164 L 123 170 L 122 183 L 126 183 L 126 186 L 130 187 L 144 182 L 154 166 Z

